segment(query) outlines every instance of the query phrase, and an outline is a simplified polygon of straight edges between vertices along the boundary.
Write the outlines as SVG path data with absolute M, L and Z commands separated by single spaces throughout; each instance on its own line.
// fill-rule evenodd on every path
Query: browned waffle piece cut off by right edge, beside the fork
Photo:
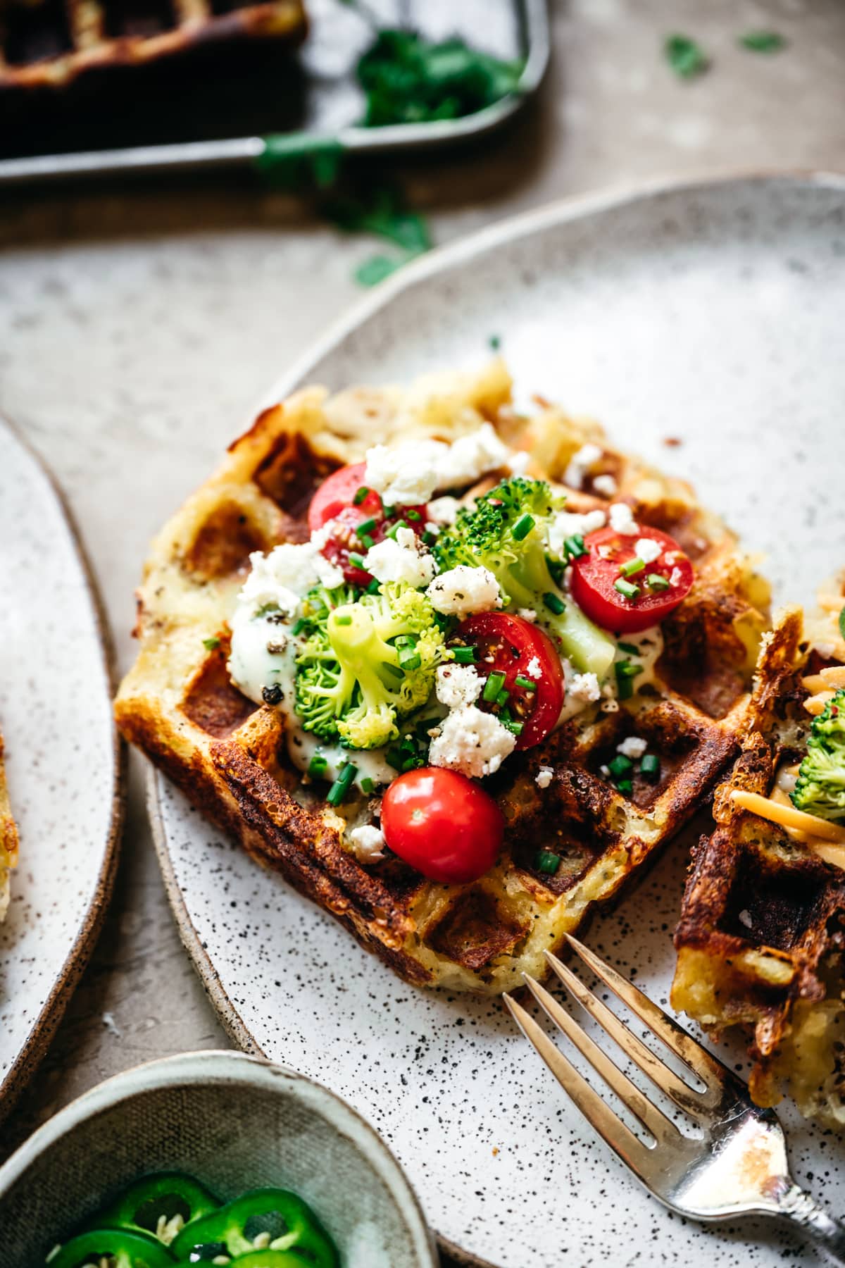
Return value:
M 840 593 L 836 610 L 844 602 Z M 806 837 L 741 808 L 731 794 L 769 796 L 778 770 L 801 760 L 812 720 L 804 676 L 842 653 L 830 616 L 813 616 L 804 629 L 799 609 L 766 639 L 742 751 L 713 799 L 716 831 L 693 853 L 671 990 L 673 1007 L 707 1030 L 751 1031 L 758 1104 L 777 1103 L 785 1082 L 803 1113 L 840 1127 L 845 872 L 825 860 L 845 860 L 845 847 L 820 846 L 820 857 Z

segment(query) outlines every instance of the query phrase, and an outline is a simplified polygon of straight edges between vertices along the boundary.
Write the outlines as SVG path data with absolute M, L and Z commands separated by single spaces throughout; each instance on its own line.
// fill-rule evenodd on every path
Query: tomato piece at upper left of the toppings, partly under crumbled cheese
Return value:
M 414 533 L 421 534 L 426 531 L 428 521 L 424 506 L 398 506 L 393 515 L 385 516 L 378 493 L 367 493 L 356 506 L 355 495 L 364 487 L 365 472 L 366 463 L 341 467 L 340 470 L 332 472 L 317 489 L 308 507 L 308 527 L 312 533 L 322 529 L 329 520 L 336 521 L 332 536 L 321 553 L 343 569 L 343 579 L 350 586 L 362 587 L 370 585 L 372 576 L 350 563 L 350 555 L 365 555 L 370 545 L 384 540 L 394 524 L 407 524 Z M 359 533 L 359 527 L 367 521 L 372 521 L 367 531 Z

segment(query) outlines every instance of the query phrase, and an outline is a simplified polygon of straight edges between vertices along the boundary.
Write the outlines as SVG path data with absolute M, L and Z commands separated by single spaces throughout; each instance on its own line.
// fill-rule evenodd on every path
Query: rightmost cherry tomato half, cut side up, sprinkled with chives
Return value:
M 656 625 L 687 597 L 693 583 L 693 566 L 674 538 L 645 524 L 639 536 L 656 541 L 660 554 L 636 572 L 623 574 L 619 569 L 636 558 L 637 538 L 611 527 L 589 533 L 584 538 L 588 554 L 573 562 L 573 598 L 590 620 L 614 634 L 636 634 Z M 628 596 L 616 588 L 618 581 L 633 587 Z

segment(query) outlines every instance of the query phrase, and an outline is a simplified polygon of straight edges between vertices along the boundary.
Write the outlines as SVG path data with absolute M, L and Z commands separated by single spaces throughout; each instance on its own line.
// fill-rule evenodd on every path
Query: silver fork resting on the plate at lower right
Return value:
M 773 1215 L 788 1220 L 804 1238 L 845 1264 L 845 1227 L 799 1189 L 789 1174 L 783 1129 L 772 1110 L 760 1110 L 741 1079 L 722 1065 L 661 1008 L 626 981 L 576 938 L 570 945 L 585 965 L 645 1022 L 704 1084 L 692 1088 L 656 1056 L 580 981 L 565 964 L 546 952 L 554 973 L 570 994 L 604 1028 L 651 1082 L 698 1126 L 701 1139 L 684 1136 L 575 1022 L 554 995 L 528 974 L 526 985 L 551 1021 L 612 1088 L 651 1136 L 645 1144 L 604 1103 L 542 1027 L 511 995 L 504 1002 L 543 1061 L 588 1122 L 631 1168 L 650 1193 L 679 1215 L 694 1220 L 727 1220 L 737 1215 Z

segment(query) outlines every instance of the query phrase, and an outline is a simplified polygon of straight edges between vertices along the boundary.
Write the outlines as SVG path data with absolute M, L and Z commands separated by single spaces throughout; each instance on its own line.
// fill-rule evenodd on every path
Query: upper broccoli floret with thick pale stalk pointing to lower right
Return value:
M 531 607 L 575 668 L 604 677 L 613 662 L 613 642 L 564 600 L 547 555 L 549 526 L 565 497 L 555 497 L 543 481 L 513 476 L 459 511 L 433 552 L 441 569 L 456 564 L 489 568 L 505 607 Z M 557 576 L 560 573 L 557 572 Z

